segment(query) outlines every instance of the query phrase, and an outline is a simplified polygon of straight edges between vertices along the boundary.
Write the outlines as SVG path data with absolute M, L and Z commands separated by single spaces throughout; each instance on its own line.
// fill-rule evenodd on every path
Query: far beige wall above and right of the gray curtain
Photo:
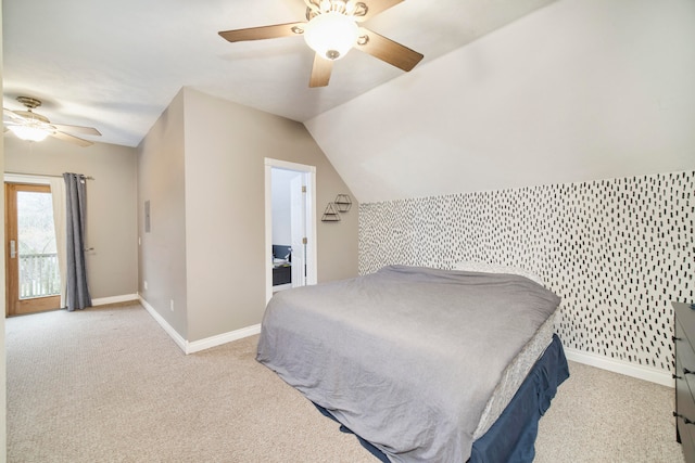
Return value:
M 60 176 L 77 172 L 87 182 L 87 246 L 92 299 L 137 292 L 136 150 L 106 143 L 81 147 L 48 138 L 29 143 L 4 137 L 4 171 Z

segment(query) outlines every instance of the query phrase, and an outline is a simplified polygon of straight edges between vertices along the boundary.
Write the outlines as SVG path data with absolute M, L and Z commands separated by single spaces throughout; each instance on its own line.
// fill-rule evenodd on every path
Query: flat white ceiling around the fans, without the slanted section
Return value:
M 406 0 L 365 26 L 425 54 L 421 66 L 553 1 Z M 329 87 L 309 89 L 313 53 L 301 37 L 217 35 L 304 12 L 302 0 L 4 0 L 3 106 L 38 98 L 51 121 L 136 146 L 185 86 L 305 121 L 403 73 L 353 51 Z

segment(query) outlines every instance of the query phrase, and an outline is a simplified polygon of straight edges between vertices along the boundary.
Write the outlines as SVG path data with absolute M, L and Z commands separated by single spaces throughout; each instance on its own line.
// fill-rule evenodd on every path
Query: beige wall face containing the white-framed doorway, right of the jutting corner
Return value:
M 316 166 L 320 211 L 350 191 L 303 125 L 185 92 L 189 335 L 198 339 L 263 316 L 266 157 Z M 317 234 L 318 281 L 356 275 L 356 211 L 319 222 Z

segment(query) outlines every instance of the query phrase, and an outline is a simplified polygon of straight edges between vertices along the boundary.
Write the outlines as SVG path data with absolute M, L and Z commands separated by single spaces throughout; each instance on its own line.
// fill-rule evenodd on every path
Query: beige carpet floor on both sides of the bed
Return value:
M 8 319 L 9 462 L 375 463 L 254 360 L 184 356 L 139 306 Z M 571 363 L 536 462 L 682 462 L 673 390 Z

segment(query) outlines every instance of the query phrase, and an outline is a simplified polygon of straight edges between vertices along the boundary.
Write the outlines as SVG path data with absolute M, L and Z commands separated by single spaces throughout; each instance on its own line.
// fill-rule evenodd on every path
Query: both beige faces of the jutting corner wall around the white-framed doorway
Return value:
M 189 342 L 261 322 L 266 157 L 316 167 L 319 219 L 337 194 L 351 194 L 303 125 L 192 89 L 181 90 L 139 151 L 138 207 L 151 198 L 153 227 L 142 241 L 141 280 L 161 291 L 143 295 Z M 169 206 L 162 210 L 155 197 Z M 318 281 L 356 275 L 357 205 L 340 223 L 319 222 L 317 235 Z

